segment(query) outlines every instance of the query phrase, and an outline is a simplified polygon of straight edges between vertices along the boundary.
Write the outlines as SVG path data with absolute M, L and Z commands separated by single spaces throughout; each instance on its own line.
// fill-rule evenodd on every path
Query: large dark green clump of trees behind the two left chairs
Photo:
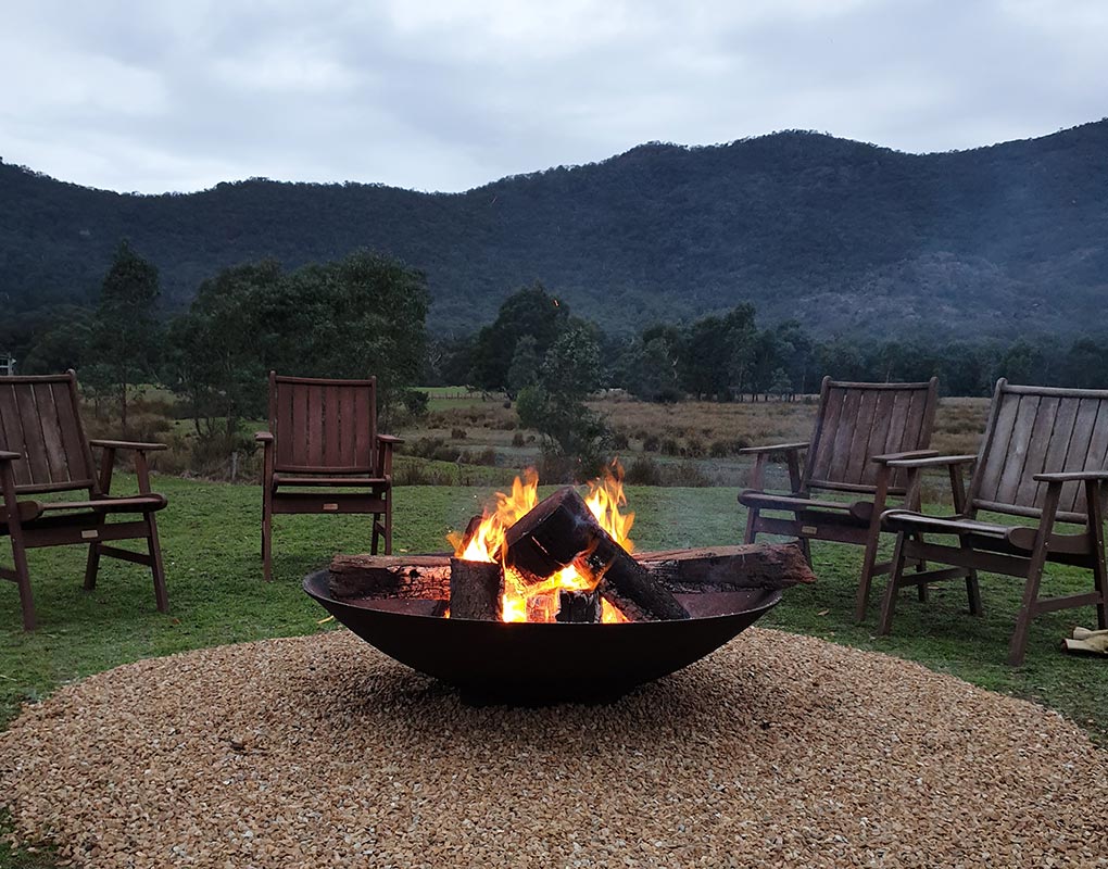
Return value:
M 294 270 L 275 260 L 226 268 L 168 320 L 155 317 L 160 294 L 157 269 L 123 242 L 94 307 L 7 318 L 0 347 L 21 374 L 78 369 L 98 412 L 111 408 L 125 431 L 133 387 L 167 387 L 207 452 L 224 456 L 249 447 L 244 420 L 266 417 L 269 370 L 376 374 L 386 406 L 410 401 L 406 387 L 423 371 L 427 284 L 391 257 L 355 251 Z

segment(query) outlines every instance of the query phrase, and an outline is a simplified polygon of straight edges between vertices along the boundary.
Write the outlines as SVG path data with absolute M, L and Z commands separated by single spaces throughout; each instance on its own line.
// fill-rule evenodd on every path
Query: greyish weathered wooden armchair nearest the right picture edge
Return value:
M 962 467 L 976 460 L 966 493 Z M 1039 613 L 1095 605 L 1097 623 L 1108 627 L 1108 574 L 1105 571 L 1104 502 L 1108 487 L 1108 391 L 1009 386 L 999 380 L 993 395 L 981 451 L 891 462 L 913 477 L 927 468 L 947 468 L 954 515 L 929 517 L 891 510 L 886 526 L 900 532 L 893 574 L 881 609 L 880 633 L 892 627 L 896 593 L 905 585 L 965 579 L 970 612 L 981 613 L 977 571 L 1023 577 L 1024 596 L 1008 646 L 1008 664 L 1019 666 L 1032 618 Z M 977 519 L 978 511 L 1038 520 L 1037 525 Z M 1079 525 L 1070 533 L 1057 523 Z M 950 534 L 956 545 L 915 539 L 919 532 Z M 954 565 L 904 575 L 907 560 Z M 1092 591 L 1039 597 L 1047 562 L 1092 572 Z

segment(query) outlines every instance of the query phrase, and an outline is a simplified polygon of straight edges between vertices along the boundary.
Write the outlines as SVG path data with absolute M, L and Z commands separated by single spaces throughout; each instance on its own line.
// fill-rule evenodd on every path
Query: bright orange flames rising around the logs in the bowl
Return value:
M 589 511 L 613 540 L 627 552 L 635 549 L 628 536 L 635 522 L 634 513 L 620 512 L 627 505 L 623 490 L 623 467 L 613 461 L 603 477 L 588 482 L 585 503 Z M 507 529 L 538 503 L 538 474 L 529 468 L 512 483 L 511 494 L 496 492 L 495 504 L 485 509 L 476 530 L 465 540 L 458 532 L 447 535 L 454 548 L 454 558 L 466 561 L 489 561 L 504 564 L 503 615 L 505 622 L 553 622 L 557 614 L 558 591 L 593 591 L 603 579 L 603 571 L 595 571 L 584 558 L 578 555 L 557 573 L 536 583 L 527 583 L 515 570 L 505 564 L 507 550 L 504 545 Z M 618 607 L 607 601 L 601 604 L 601 621 L 617 624 L 628 621 Z

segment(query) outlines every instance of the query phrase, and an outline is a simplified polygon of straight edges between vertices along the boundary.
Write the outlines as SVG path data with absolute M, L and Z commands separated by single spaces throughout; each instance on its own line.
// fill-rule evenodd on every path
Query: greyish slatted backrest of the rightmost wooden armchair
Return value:
M 1108 390 L 1009 386 L 1002 378 L 970 483 L 970 505 L 1037 519 L 1047 487 L 1035 474 L 1106 467 Z M 1084 523 L 1086 517 L 1081 483 L 1064 483 L 1058 518 Z

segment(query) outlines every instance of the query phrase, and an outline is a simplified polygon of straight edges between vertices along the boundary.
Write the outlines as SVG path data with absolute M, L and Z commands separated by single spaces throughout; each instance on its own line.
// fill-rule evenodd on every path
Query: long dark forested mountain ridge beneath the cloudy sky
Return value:
M 461 194 L 252 178 L 148 196 L 0 164 L 0 203 L 12 310 L 94 298 L 123 237 L 171 309 L 245 260 L 388 252 L 458 331 L 536 279 L 614 330 L 749 300 L 819 335 L 1074 334 L 1108 293 L 1108 120 L 941 154 L 808 132 L 652 143 Z

